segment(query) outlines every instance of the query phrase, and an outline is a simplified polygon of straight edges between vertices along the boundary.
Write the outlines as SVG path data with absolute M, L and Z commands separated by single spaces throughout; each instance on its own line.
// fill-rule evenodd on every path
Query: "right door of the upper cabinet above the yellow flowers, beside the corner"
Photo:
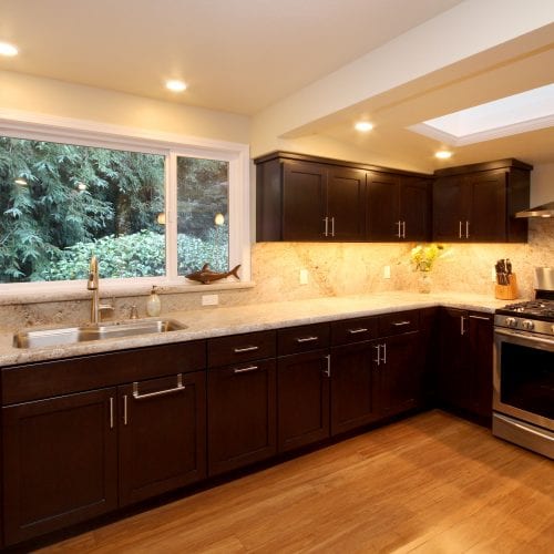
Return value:
M 400 219 L 406 240 L 431 238 L 431 188 L 428 181 L 401 177 Z

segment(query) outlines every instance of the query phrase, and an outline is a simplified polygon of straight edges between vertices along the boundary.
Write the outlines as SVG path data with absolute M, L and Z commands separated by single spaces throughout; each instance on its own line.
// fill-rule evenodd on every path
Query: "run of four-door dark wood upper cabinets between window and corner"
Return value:
M 414 240 L 430 234 L 429 176 L 425 182 L 424 175 L 400 170 L 290 152 L 255 163 L 258 242 L 400 240 L 403 235 Z M 416 191 L 421 195 L 417 201 Z

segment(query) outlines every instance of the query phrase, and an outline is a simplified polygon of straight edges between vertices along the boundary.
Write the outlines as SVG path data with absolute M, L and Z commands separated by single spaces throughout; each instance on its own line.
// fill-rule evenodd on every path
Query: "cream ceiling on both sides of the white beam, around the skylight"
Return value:
M 0 70 L 255 115 L 462 0 L 0 0 L 0 41 L 20 55 Z M 502 18 L 490 24 L 502 24 Z M 471 30 L 468 30 L 471 39 Z M 387 68 L 383 68 L 387 71 Z M 455 72 L 454 72 L 455 73 Z M 453 73 L 453 75 L 454 75 Z M 407 130 L 451 111 L 554 82 L 550 45 L 486 70 L 465 68 L 441 86 L 420 82 L 314 122 L 316 133 L 359 161 L 427 171 L 440 142 Z M 183 79 L 175 95 L 166 79 Z M 398 100 L 400 99 L 400 100 Z M 353 120 L 376 130 L 360 135 Z M 367 155 L 363 153 L 367 152 Z M 363 157 L 363 160 L 361 160 Z M 554 162 L 554 130 L 456 150 L 447 165 L 500 157 Z

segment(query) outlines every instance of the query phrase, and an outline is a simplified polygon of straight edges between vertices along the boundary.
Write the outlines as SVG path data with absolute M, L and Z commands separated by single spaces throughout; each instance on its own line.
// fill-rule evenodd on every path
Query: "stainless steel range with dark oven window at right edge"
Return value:
M 554 269 L 494 316 L 493 434 L 554 459 Z

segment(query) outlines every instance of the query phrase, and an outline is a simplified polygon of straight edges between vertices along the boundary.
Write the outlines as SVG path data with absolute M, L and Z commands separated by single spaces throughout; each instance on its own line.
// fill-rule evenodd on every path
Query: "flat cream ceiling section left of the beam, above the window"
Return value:
M 1 0 L 0 69 L 254 114 L 460 1 Z

